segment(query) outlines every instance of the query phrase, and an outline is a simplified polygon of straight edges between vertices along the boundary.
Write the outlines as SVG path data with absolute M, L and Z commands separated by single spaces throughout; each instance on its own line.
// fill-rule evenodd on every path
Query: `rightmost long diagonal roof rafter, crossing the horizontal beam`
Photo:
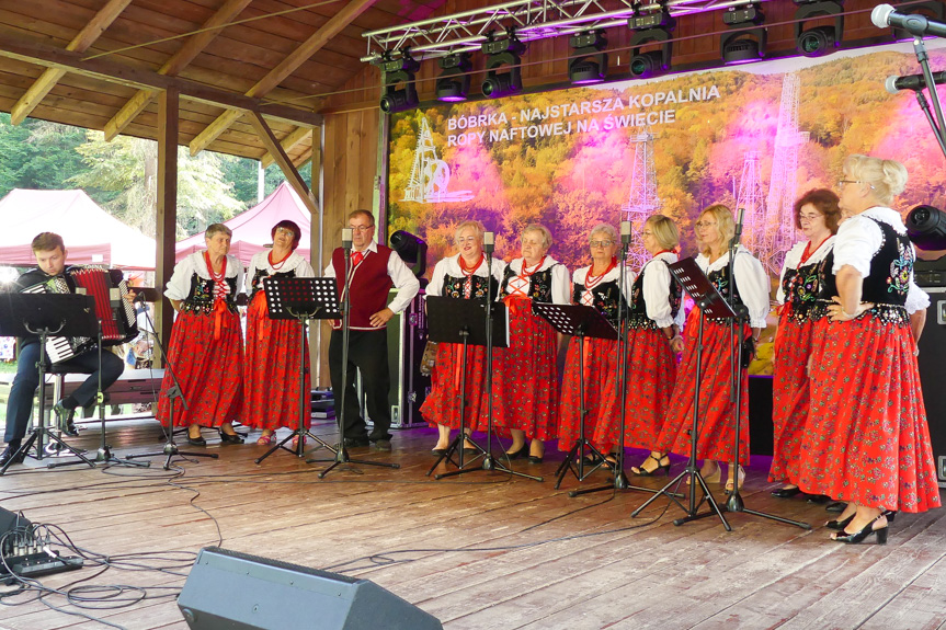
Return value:
M 262 98 L 272 92 L 286 77 L 295 72 L 299 66 L 306 62 L 309 57 L 318 53 L 332 37 L 342 32 L 342 30 L 352 23 L 358 15 L 368 9 L 375 0 L 352 0 L 344 9 L 335 13 L 331 20 L 316 31 L 308 39 L 303 42 L 298 48 L 293 50 L 288 57 L 283 59 L 278 66 L 270 70 L 265 77 L 260 79 L 255 85 L 247 91 L 247 96 Z M 217 139 L 220 134 L 227 130 L 241 114 L 235 112 L 224 112 L 216 121 L 210 123 L 203 131 L 191 140 L 191 154 L 196 156 L 206 149 L 210 142 Z M 274 156 L 275 157 L 275 156 Z

